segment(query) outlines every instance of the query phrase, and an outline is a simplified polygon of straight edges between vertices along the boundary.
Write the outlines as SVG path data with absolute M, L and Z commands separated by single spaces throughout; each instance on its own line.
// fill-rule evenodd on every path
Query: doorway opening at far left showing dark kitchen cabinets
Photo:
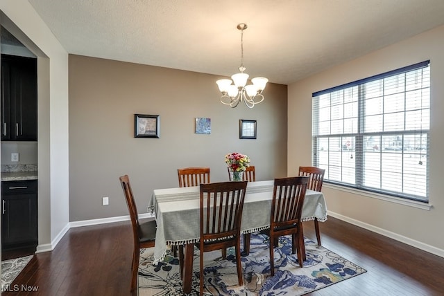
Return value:
M 0 27 L 1 257 L 33 254 L 37 228 L 37 57 Z

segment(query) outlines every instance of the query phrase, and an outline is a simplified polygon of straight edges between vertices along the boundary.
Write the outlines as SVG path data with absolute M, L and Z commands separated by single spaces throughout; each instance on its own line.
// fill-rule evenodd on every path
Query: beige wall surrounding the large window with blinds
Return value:
M 311 164 L 311 93 L 431 60 L 430 195 L 421 210 L 325 185 L 330 214 L 444 257 L 444 26 L 289 85 L 288 174 Z

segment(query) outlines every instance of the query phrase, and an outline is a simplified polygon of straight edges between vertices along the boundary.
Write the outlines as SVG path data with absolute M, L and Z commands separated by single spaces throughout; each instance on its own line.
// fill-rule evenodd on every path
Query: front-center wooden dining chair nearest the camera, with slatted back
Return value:
M 247 181 L 200 184 L 200 295 L 203 295 L 203 253 L 236 250 L 237 281 L 244 284 L 241 266 L 241 218 Z

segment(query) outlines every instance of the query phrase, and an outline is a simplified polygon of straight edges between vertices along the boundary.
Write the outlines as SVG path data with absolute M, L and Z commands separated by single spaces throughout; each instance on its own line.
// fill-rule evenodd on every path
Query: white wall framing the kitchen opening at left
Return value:
M 37 56 L 39 246 L 51 249 L 69 223 L 68 55 L 28 1 L 2 0 L 1 24 Z

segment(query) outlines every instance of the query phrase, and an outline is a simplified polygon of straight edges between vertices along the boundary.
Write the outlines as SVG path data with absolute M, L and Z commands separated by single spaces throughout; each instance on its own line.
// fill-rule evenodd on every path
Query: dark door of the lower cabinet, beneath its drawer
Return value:
M 3 196 L 2 248 L 21 243 L 37 245 L 37 194 Z

